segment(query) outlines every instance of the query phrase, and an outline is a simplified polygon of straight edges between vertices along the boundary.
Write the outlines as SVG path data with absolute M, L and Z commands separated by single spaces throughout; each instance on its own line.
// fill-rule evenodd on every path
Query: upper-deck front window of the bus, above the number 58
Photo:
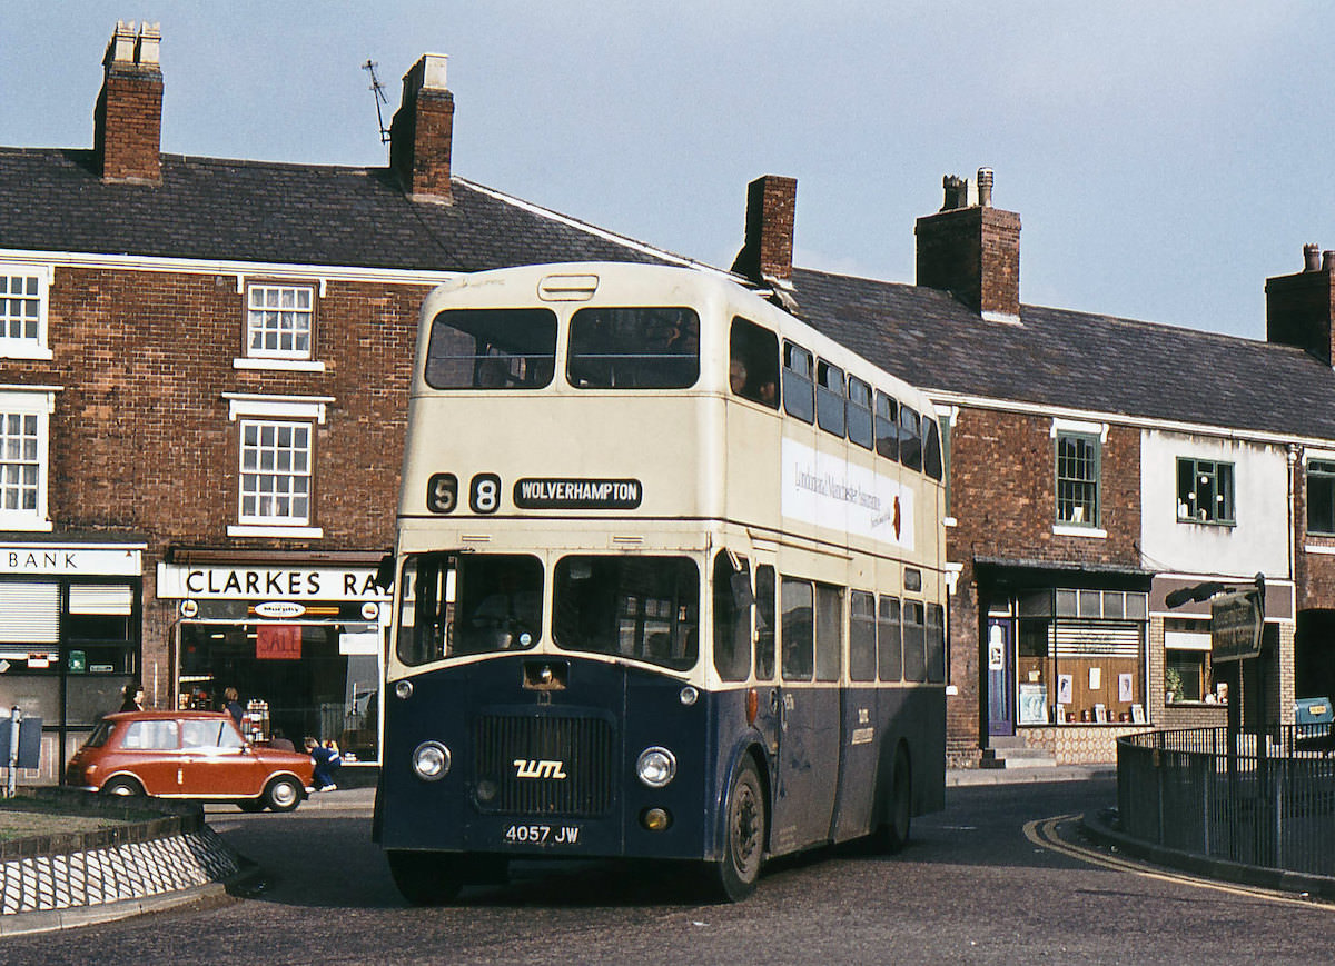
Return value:
M 431 320 L 426 383 L 434 390 L 541 390 L 557 360 L 550 308 L 454 308 Z

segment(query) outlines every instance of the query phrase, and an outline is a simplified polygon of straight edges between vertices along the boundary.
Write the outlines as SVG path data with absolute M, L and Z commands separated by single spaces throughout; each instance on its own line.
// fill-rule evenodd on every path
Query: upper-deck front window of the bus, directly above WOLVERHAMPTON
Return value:
M 581 390 L 694 386 L 700 316 L 690 308 L 581 308 L 570 320 L 566 378 Z

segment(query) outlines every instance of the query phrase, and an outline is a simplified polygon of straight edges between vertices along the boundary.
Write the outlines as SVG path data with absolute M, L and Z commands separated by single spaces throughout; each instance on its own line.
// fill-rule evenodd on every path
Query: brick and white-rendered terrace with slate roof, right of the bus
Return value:
M 1224 724 L 1239 663 L 1211 663 L 1208 600 L 1165 604 L 1203 582 L 1264 575 L 1248 722 L 1335 691 L 1335 254 L 1267 283 L 1263 343 L 1023 304 L 988 169 L 918 219 L 912 286 L 794 270 L 796 183 L 752 188 L 734 268 L 937 404 L 953 761 L 1113 761 L 1147 723 Z

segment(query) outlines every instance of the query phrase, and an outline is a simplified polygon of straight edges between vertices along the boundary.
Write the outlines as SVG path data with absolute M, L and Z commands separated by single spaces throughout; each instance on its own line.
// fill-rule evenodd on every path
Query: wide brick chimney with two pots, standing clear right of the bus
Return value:
M 977 200 L 969 183 L 943 179 L 945 204 L 920 217 L 917 284 L 951 292 L 987 319 L 1020 319 L 1020 216 L 992 207 L 992 169 L 979 168 Z

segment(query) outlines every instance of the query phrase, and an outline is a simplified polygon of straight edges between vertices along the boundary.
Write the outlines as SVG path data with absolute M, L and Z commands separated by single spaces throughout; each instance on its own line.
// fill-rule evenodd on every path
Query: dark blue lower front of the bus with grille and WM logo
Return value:
M 521 855 L 700 858 L 709 737 L 720 702 L 635 668 L 567 658 L 502 656 L 413 678 L 386 702 L 376 799 L 386 849 Z M 726 703 L 737 703 L 730 700 Z M 450 769 L 425 781 L 415 750 L 438 742 Z M 677 774 L 662 789 L 635 777 L 663 747 Z M 649 831 L 650 809 L 668 827 Z

